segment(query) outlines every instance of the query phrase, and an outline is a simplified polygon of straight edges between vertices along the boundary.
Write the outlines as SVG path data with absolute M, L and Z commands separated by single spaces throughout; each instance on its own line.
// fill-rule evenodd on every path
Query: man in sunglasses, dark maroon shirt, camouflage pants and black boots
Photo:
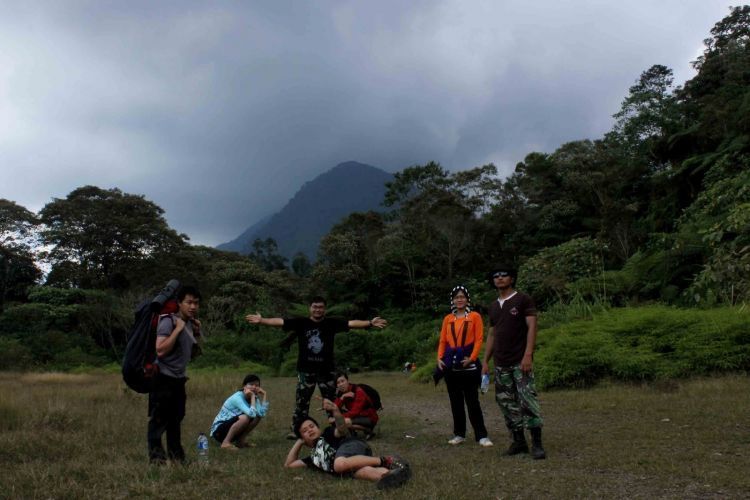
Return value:
M 506 455 L 527 453 L 524 423 L 531 434 L 531 456 L 545 458 L 542 447 L 542 415 L 534 387 L 532 370 L 536 343 L 536 307 L 534 300 L 513 287 L 516 271 L 501 265 L 490 273 L 490 282 L 498 299 L 490 305 L 490 331 L 482 364 L 489 373 L 489 362 L 495 362 L 495 400 L 513 434 Z

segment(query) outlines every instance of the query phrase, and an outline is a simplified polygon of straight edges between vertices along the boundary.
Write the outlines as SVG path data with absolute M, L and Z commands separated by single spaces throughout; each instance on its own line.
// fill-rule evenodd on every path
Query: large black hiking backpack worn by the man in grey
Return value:
M 135 321 L 122 359 L 122 379 L 136 392 L 151 392 L 154 378 L 159 373 L 156 327 L 161 314 L 177 312 L 175 292 L 179 286 L 179 281 L 170 281 L 159 295 L 144 300 L 135 309 Z

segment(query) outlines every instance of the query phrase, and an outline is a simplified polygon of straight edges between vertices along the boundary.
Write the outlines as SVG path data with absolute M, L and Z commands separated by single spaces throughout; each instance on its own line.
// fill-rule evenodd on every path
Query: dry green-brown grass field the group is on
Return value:
M 193 372 L 183 445 L 195 457 L 244 373 Z M 722 376 L 654 385 L 604 385 L 541 394 L 548 459 L 503 457 L 507 445 L 491 393 L 482 397 L 495 447 L 450 447 L 443 384 L 401 374 L 353 381 L 377 387 L 385 409 L 375 453 L 412 464 L 405 487 L 309 470 L 285 470 L 294 380 L 267 378 L 271 412 L 252 447 L 210 450 L 210 463 L 151 467 L 146 398 L 117 374 L 0 374 L 2 498 L 742 498 L 750 497 L 750 380 Z M 408 437 L 407 437 L 408 436 Z M 211 443 L 214 445 L 214 443 Z

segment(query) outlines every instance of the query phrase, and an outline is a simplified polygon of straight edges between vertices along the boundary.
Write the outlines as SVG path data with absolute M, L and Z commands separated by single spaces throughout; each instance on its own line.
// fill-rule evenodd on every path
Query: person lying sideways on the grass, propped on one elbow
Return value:
M 312 467 L 341 477 L 373 481 L 378 489 L 395 488 L 409 480 L 411 469 L 404 459 L 398 455 L 372 456 L 365 441 L 350 435 L 341 411 L 330 399 L 323 399 L 323 410 L 333 415 L 335 427 L 321 431 L 315 419 L 303 416 L 294 426 L 298 439 L 289 450 L 284 467 Z M 300 459 L 303 446 L 310 448 L 310 455 Z

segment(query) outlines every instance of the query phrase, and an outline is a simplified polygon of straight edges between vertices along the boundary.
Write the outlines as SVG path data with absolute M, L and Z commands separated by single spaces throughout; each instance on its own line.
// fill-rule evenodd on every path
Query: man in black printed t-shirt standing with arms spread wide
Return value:
M 345 320 L 326 318 L 326 301 L 316 296 L 310 301 L 308 318 L 263 318 L 259 313 L 248 314 L 245 319 L 252 325 L 281 327 L 284 331 L 294 332 L 299 346 L 297 357 L 297 392 L 292 429 L 300 419 L 310 411 L 310 398 L 315 386 L 320 389 L 323 398 L 336 398 L 336 366 L 333 356 L 334 336 L 353 328 L 385 328 L 388 322 L 380 317 L 371 320 Z M 292 433 L 288 436 L 294 439 Z

